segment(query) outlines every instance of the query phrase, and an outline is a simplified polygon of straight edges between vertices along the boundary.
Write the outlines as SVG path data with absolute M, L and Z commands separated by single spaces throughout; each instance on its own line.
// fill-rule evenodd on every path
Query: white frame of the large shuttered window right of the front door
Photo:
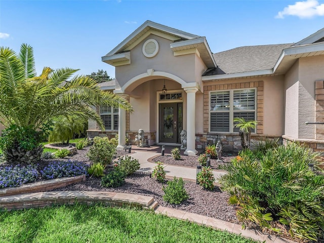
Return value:
M 254 103 L 254 117 L 255 120 L 257 119 L 257 103 L 258 103 L 258 99 L 257 99 L 257 88 L 243 88 L 243 89 L 226 89 L 226 90 L 210 90 L 209 91 L 209 99 L 208 99 L 208 132 L 209 133 L 224 133 L 224 134 L 238 134 L 238 132 L 234 132 L 234 123 L 233 123 L 233 117 L 234 117 L 234 112 L 237 110 L 234 110 L 233 105 L 231 104 L 231 102 L 233 102 L 233 97 L 234 97 L 234 91 L 240 91 L 240 90 L 254 90 L 254 96 L 255 96 L 255 103 Z M 229 91 L 229 102 L 230 102 L 230 106 L 229 106 L 229 110 L 222 110 L 219 112 L 229 112 L 229 132 L 214 132 L 211 131 L 211 113 L 217 113 L 217 111 L 211 111 L 211 97 L 212 97 L 212 93 L 217 93 L 217 92 L 226 92 Z M 244 110 L 246 112 L 253 112 L 253 110 Z M 252 134 L 256 134 L 257 132 L 257 128 L 255 129 L 255 132 L 253 132 Z

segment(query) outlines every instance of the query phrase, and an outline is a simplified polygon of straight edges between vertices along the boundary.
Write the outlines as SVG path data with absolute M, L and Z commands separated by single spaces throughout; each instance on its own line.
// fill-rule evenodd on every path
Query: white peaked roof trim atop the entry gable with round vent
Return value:
M 181 31 L 181 30 L 174 29 L 174 28 L 171 28 L 171 27 L 166 26 L 166 25 L 162 25 L 162 24 L 152 22 L 150 20 L 146 20 L 140 27 L 138 27 L 133 33 L 131 33 L 129 36 L 127 36 L 124 39 L 124 41 L 119 43 L 114 49 L 112 49 L 105 56 L 111 56 L 111 55 L 115 54 L 119 49 L 123 48 L 123 46 L 125 46 L 125 44 L 130 42 L 136 35 L 138 35 L 140 32 L 142 32 L 146 27 L 151 27 L 151 28 L 154 28 L 154 29 L 158 29 L 158 30 L 170 33 L 170 34 L 178 35 L 178 36 L 180 36 L 182 38 L 186 38 L 186 39 L 193 39 L 193 38 L 200 37 L 199 35 L 190 34 L 190 33 L 185 32 L 185 31 Z

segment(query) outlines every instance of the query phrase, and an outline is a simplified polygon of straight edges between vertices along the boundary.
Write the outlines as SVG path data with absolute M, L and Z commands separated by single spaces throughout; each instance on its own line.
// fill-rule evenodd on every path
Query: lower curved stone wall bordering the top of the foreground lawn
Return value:
M 102 203 L 106 206 L 131 206 L 154 210 L 153 197 L 107 191 L 47 191 L 0 197 L 0 208 L 28 209 L 74 203 Z

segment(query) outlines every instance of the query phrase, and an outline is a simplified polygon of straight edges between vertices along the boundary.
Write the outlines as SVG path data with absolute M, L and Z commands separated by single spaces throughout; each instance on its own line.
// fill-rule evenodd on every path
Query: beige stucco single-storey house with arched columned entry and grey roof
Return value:
M 239 150 L 235 117 L 258 121 L 252 140 L 300 141 L 324 149 L 324 28 L 297 43 L 239 47 L 213 54 L 205 37 L 146 21 L 102 57 L 115 67 L 103 90 L 127 99 L 134 112 L 93 107 L 118 149 L 139 129 L 148 145 L 180 144 L 185 154 L 220 140 Z M 163 89 L 166 90 L 163 90 Z

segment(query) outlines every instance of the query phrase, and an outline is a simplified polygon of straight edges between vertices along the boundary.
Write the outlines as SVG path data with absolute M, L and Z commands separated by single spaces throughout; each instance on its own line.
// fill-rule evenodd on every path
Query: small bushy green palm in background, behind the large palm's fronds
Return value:
M 62 142 L 69 144 L 69 140 L 85 131 L 87 120 L 76 115 L 59 116 L 53 119 L 53 130 L 49 136 L 49 142 Z

